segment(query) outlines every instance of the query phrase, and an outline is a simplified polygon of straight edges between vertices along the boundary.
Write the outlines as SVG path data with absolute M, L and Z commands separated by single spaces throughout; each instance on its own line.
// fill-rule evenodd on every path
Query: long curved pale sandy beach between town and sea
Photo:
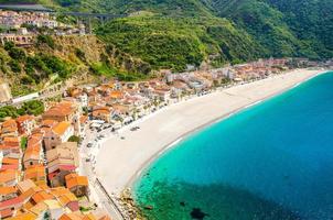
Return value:
M 118 136 L 110 135 L 104 141 L 96 160 L 96 175 L 109 194 L 119 194 L 142 168 L 181 138 L 320 73 L 323 70 L 298 69 L 164 108 L 135 123 L 140 130 L 126 128 Z

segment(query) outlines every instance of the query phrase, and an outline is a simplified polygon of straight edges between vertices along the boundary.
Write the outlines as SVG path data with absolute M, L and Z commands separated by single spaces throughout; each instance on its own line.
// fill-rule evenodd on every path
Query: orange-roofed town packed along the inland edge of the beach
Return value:
M 98 148 L 99 140 L 106 138 L 98 133 L 117 133 L 172 103 L 288 69 L 287 59 L 269 59 L 207 72 L 165 72 L 163 77 L 148 81 L 112 79 L 68 88 L 58 102 L 45 102 L 41 116 L 3 119 L 1 218 L 108 219 L 108 213 L 98 208 L 98 200 L 96 204 L 89 197 L 94 187 L 89 179 L 96 179 L 82 175 L 80 161 L 94 169 L 96 158 L 86 152 L 83 158 L 80 147 Z M 87 140 L 87 133 L 94 139 Z

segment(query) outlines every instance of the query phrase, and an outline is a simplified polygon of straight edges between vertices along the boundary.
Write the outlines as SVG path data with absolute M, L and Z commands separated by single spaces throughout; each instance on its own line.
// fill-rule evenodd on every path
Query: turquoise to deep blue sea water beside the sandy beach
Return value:
M 186 138 L 135 197 L 148 219 L 333 219 L 333 73 Z

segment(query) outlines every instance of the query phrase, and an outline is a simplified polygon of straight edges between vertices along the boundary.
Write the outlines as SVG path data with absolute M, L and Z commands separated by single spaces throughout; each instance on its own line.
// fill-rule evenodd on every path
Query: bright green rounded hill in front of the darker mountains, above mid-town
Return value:
M 200 66 L 204 61 L 239 63 L 262 55 L 249 35 L 224 19 L 174 20 L 144 14 L 115 20 L 96 33 L 155 69 L 183 70 L 186 65 Z

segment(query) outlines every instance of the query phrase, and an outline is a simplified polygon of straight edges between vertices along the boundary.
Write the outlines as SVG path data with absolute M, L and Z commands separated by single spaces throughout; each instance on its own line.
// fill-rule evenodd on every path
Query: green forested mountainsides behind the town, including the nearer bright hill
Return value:
M 270 56 L 333 57 L 332 0 L 29 1 L 57 10 L 129 14 L 95 32 L 154 69 Z

